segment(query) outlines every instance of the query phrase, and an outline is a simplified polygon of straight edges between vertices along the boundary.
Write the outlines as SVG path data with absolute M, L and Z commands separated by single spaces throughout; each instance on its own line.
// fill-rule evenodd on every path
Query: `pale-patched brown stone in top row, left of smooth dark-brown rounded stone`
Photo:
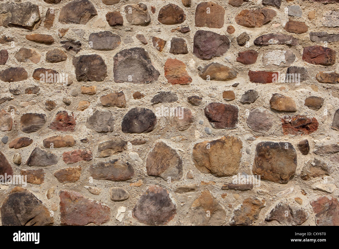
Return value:
M 124 10 L 126 20 L 134 25 L 146 26 L 151 23 L 151 16 L 144 3 L 126 5 Z

